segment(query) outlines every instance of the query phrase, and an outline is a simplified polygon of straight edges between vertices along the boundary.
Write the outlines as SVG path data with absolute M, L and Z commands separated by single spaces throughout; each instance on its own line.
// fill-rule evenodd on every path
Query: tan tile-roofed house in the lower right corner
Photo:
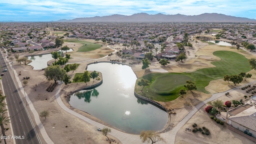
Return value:
M 252 104 L 240 105 L 226 114 L 228 125 L 256 138 L 256 107 Z

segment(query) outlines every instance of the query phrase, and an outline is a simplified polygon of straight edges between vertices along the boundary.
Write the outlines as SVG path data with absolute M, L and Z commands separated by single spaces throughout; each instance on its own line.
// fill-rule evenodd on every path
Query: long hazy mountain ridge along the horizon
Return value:
M 204 13 L 194 16 L 138 13 L 131 16 L 113 14 L 111 16 L 94 16 L 72 20 L 64 19 L 55 22 L 256 22 L 256 20 L 217 13 Z

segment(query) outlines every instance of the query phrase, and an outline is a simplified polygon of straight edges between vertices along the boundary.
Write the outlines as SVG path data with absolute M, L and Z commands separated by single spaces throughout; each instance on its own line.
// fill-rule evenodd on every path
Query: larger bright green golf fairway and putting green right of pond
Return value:
M 137 86 L 137 84 L 135 90 L 138 94 L 153 100 L 167 102 L 179 96 L 179 91 L 185 89 L 186 80 L 194 81 L 197 90 L 208 93 L 205 87 L 210 81 L 223 79 L 225 75 L 240 74 L 240 72 L 251 70 L 248 59 L 241 54 L 230 51 L 216 51 L 213 54 L 221 58 L 220 61 L 212 62 L 216 66 L 214 68 L 203 68 L 194 72 L 184 73 L 148 74 L 142 77 L 150 81 L 150 85 L 143 89 L 143 94 L 140 92 L 142 87 Z

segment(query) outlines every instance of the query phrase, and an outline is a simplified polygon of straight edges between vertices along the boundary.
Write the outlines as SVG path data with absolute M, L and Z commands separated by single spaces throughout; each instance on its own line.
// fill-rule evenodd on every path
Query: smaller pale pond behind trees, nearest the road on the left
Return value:
M 58 52 L 60 52 L 59 50 Z M 72 52 L 73 49 L 70 48 L 67 52 Z M 65 51 L 62 51 L 65 53 Z M 32 60 L 32 62 L 29 63 L 29 65 L 33 66 L 33 70 L 41 70 L 42 68 L 47 67 L 47 62 L 49 60 L 52 60 L 52 54 L 41 54 L 37 56 L 28 56 L 28 60 Z

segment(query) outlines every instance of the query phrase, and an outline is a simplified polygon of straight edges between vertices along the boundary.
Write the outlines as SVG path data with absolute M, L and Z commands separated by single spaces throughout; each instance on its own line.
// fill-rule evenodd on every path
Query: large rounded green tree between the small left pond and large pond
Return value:
M 63 81 L 63 78 L 66 74 L 66 70 L 60 68 L 59 65 L 48 66 L 44 70 L 44 76 L 47 80 L 54 80 L 55 84 L 57 80 Z

